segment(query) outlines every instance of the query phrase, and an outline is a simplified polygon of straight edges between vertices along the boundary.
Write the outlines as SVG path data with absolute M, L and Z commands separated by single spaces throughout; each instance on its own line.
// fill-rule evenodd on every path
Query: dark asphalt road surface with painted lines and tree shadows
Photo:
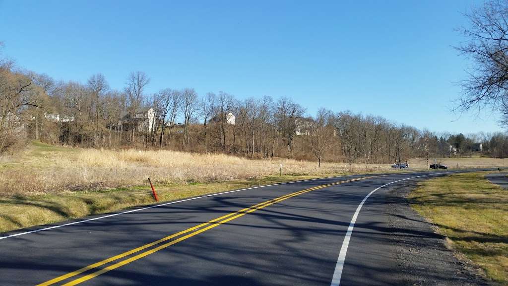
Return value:
M 449 173 L 284 183 L 5 233 L 0 285 L 400 284 L 385 206 Z

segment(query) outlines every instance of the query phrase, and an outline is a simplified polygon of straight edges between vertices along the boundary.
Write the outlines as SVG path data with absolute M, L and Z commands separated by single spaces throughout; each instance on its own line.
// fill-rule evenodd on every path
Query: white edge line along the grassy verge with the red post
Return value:
M 122 214 L 128 214 L 128 213 L 143 211 L 143 210 L 147 210 L 147 209 L 151 209 L 151 208 L 172 205 L 172 204 L 181 203 L 181 202 L 185 202 L 185 201 L 191 201 L 193 199 L 198 199 L 198 198 L 207 197 L 207 196 L 214 196 L 214 195 L 233 193 L 233 192 L 239 192 L 239 191 L 257 189 L 257 188 L 263 188 L 263 187 L 284 185 L 284 184 L 292 184 L 292 183 L 314 181 L 314 180 L 322 180 L 322 179 L 330 179 L 330 178 L 350 177 L 350 176 L 339 176 L 339 177 L 325 177 L 325 178 L 308 179 L 308 180 L 301 180 L 301 181 L 293 181 L 293 182 L 285 182 L 285 183 L 277 183 L 277 184 L 271 184 L 271 185 L 257 186 L 257 187 L 251 187 L 251 188 L 246 188 L 246 189 L 233 190 L 233 191 L 227 191 L 227 192 L 221 192 L 221 193 L 215 193 L 215 194 L 209 194 L 209 195 L 202 195 L 202 196 L 197 196 L 197 197 L 192 197 L 192 198 L 181 199 L 180 201 L 169 202 L 169 203 L 164 203 L 164 204 L 160 204 L 160 205 L 155 205 L 155 206 L 150 206 L 150 207 L 145 207 L 145 208 L 125 211 L 125 212 L 121 212 L 121 213 L 115 213 L 115 214 L 110 214 L 110 215 L 105 215 L 105 216 L 100 216 L 100 217 L 95 217 L 95 218 L 90 218 L 90 219 L 85 219 L 85 220 L 79 220 L 79 221 L 65 223 L 65 224 L 59 224 L 59 225 L 54 225 L 54 226 L 45 227 L 45 228 L 40 228 L 39 230 L 34 230 L 34 231 L 29 231 L 29 232 L 24 232 L 24 233 L 19 233 L 19 234 L 13 234 L 13 235 L 8 235 L 8 236 L 3 236 L 3 237 L 0 237 L 0 240 L 6 239 L 6 238 L 10 238 L 10 237 L 16 237 L 16 236 L 21 236 L 21 235 L 27 235 L 27 234 L 33 234 L 33 233 L 38 233 L 38 232 L 42 232 L 42 231 L 52 230 L 53 228 L 58 228 L 58 227 L 63 227 L 63 226 L 69 226 L 69 225 L 83 223 L 83 222 L 87 222 L 87 221 L 98 220 L 98 219 L 103 219 L 103 218 L 107 218 L 107 217 L 112 217 L 112 216 L 117 216 L 117 215 L 122 215 Z M 359 175 L 352 175 L 352 176 L 359 176 Z

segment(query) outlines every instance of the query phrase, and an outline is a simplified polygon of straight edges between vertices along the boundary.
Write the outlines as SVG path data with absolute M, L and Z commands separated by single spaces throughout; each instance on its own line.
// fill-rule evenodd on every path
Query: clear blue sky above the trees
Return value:
M 417 128 L 500 131 L 496 115 L 453 114 L 470 65 L 452 47 L 459 1 L 5 1 L 4 55 L 55 79 L 101 72 L 122 89 L 195 88 L 237 98 L 292 97 Z

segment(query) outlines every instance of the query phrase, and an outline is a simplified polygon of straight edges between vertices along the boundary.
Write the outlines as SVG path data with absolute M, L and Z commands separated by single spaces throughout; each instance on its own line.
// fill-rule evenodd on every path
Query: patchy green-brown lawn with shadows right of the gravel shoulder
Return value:
M 424 181 L 410 194 L 412 207 L 432 221 L 459 256 L 508 285 L 508 191 L 484 172 Z

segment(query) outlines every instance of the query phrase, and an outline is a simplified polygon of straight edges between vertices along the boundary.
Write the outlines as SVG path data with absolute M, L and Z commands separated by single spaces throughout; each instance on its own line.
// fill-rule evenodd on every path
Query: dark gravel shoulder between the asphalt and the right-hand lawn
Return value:
M 479 268 L 459 260 L 446 237 L 411 209 L 407 195 L 416 186 L 394 188 L 387 204 L 392 258 L 397 262 L 403 285 L 492 285 L 479 275 Z

